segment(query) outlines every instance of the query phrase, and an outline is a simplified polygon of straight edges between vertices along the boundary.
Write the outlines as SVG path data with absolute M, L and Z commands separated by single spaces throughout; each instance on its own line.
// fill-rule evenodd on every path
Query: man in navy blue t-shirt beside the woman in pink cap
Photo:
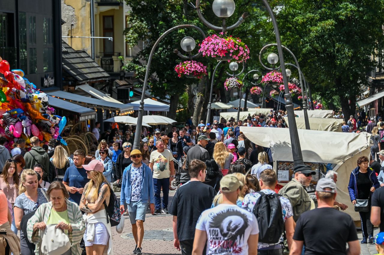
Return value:
M 83 168 L 84 160 L 85 152 L 83 150 L 75 150 L 73 152 L 74 165 L 67 168 L 63 178 L 63 184 L 68 193 L 70 193 L 69 200 L 76 204 L 80 204 L 84 186 L 89 181 Z

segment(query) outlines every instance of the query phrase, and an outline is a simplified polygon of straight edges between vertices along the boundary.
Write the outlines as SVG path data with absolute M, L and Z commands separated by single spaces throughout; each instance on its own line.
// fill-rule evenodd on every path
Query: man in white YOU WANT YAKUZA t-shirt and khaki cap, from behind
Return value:
M 207 254 L 257 254 L 258 224 L 255 215 L 238 207 L 243 186 L 234 175 L 220 180 L 223 202 L 205 210 L 196 224 L 193 255 L 201 255 L 207 242 Z

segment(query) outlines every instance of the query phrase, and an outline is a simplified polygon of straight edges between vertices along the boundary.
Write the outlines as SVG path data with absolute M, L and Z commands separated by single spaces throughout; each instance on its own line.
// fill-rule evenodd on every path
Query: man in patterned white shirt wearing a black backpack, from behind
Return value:
M 276 173 L 267 169 L 260 173 L 261 191 L 245 195 L 242 208 L 255 214 L 259 226 L 259 255 L 283 255 L 283 234 L 288 247 L 294 232 L 292 206 L 288 199 L 275 193 Z M 271 210 L 276 208 L 276 210 Z M 273 213 L 274 212 L 274 213 Z

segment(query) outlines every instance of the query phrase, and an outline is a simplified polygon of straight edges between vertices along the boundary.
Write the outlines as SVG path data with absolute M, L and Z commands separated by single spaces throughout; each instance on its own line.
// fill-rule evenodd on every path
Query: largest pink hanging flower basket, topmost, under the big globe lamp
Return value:
M 249 48 L 241 39 L 227 36 L 227 33 L 212 34 L 199 44 L 199 52 L 203 56 L 214 57 L 217 60 L 235 60 L 236 62 L 245 62 L 249 59 Z

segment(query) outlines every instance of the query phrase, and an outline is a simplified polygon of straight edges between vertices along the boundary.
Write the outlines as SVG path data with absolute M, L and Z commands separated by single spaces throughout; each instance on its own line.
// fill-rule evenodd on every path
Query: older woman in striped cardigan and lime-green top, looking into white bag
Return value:
M 47 195 L 49 203 L 41 204 L 35 215 L 28 220 L 27 237 L 30 242 L 36 245 L 35 254 L 39 254 L 42 236 L 48 225 L 55 224 L 68 235 L 71 247 L 63 255 L 80 255 L 80 241 L 84 235 L 85 223 L 79 206 L 68 200 L 69 194 L 63 183 L 53 181 L 48 188 Z

